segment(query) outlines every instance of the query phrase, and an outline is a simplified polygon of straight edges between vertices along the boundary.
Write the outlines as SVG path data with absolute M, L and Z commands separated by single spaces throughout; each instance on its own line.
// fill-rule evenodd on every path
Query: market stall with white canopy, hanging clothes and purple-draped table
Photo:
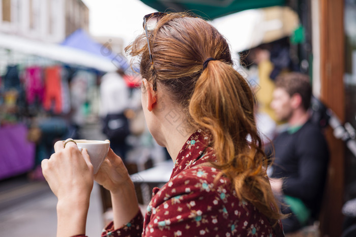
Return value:
M 127 64 L 79 33 L 63 44 L 0 34 L 0 180 L 35 169 L 56 140 L 97 119 L 101 75 Z M 81 47 L 68 45 L 78 36 Z

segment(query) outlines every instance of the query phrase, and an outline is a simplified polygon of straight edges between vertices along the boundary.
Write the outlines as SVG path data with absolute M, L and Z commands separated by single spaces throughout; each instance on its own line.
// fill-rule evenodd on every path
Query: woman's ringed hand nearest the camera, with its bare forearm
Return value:
M 54 144 L 55 153 L 42 161 L 42 172 L 57 196 L 57 237 L 85 233 L 94 168 L 85 149 L 74 142 Z

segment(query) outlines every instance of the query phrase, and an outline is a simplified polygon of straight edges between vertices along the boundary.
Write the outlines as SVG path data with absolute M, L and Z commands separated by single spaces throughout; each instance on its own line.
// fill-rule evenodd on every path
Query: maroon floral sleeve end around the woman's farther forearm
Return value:
M 141 236 L 143 226 L 143 217 L 141 211 L 138 211 L 136 216 L 126 225 L 121 228 L 114 229 L 114 224 L 111 221 L 104 229 L 101 234 L 102 237 L 110 236 Z M 83 237 L 83 236 L 80 236 Z

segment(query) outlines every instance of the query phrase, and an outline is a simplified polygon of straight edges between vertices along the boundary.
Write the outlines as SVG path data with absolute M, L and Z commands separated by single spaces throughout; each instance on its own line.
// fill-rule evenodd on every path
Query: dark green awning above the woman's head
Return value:
M 248 9 L 281 6 L 285 0 L 141 0 L 160 12 L 192 11 L 206 19 L 214 19 Z

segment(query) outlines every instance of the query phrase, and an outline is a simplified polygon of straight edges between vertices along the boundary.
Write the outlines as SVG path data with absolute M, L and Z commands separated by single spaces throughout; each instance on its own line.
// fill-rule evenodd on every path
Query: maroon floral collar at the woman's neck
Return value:
M 202 131 L 196 130 L 184 143 L 182 150 L 175 159 L 174 167 L 170 179 L 181 171 L 188 169 L 198 163 L 207 162 L 209 157 L 215 157 L 211 144 L 211 136 Z M 209 156 L 207 156 L 209 154 Z M 199 160 L 199 162 L 197 162 Z

